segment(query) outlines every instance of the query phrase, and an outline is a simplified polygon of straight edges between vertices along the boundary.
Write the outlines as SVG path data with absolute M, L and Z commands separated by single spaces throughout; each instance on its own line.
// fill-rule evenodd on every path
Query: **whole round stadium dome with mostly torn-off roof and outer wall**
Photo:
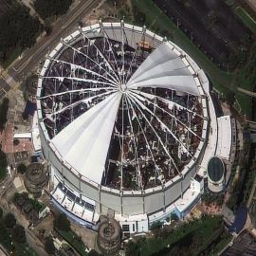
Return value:
M 47 56 L 37 92 L 56 186 L 99 213 L 170 205 L 196 174 L 208 92 L 192 58 L 145 27 L 100 23 L 75 31 Z

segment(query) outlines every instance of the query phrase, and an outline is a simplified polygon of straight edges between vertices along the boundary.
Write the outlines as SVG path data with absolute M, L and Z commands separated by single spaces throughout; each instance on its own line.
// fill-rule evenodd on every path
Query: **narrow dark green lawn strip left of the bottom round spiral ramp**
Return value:
M 73 248 L 75 248 L 80 255 L 86 256 L 88 253 L 85 251 L 87 248 L 81 241 L 81 239 L 72 231 L 63 231 L 56 229 L 56 231 L 64 238 L 64 240 Z

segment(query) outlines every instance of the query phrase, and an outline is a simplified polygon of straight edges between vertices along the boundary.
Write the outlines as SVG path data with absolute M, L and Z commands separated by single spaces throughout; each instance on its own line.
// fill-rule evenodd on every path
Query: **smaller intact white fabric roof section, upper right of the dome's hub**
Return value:
M 192 73 L 169 42 L 161 44 L 148 56 L 127 82 L 127 87 L 162 87 L 199 96 Z

